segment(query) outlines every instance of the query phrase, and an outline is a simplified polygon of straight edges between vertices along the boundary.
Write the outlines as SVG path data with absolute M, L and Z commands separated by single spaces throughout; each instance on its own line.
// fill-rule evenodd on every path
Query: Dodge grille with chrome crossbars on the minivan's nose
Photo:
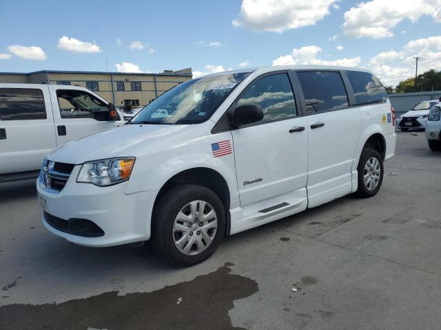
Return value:
M 46 160 L 43 163 L 43 168 L 41 168 L 39 177 L 40 187 L 48 192 L 58 194 L 61 190 L 63 190 L 74 166 L 74 164 Z

